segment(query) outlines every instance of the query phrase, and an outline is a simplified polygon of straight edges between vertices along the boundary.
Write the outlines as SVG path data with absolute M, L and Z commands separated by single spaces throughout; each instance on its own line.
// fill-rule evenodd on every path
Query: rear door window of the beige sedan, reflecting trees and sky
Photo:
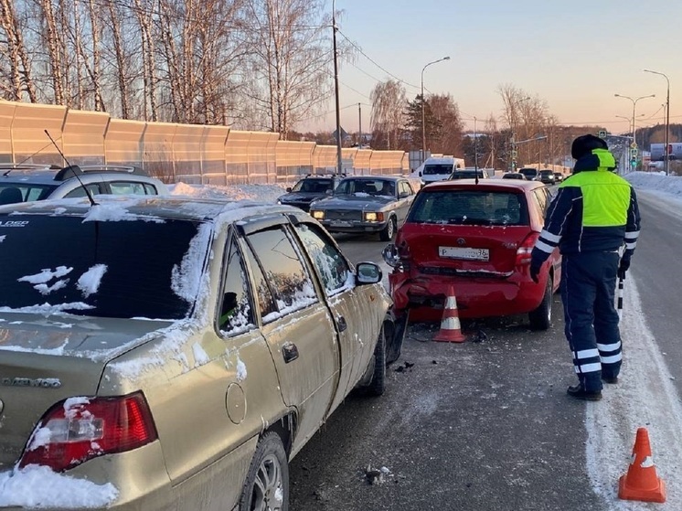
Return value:
M 310 274 L 282 226 L 251 233 L 247 240 L 258 254 L 261 277 L 267 280 L 261 283 L 269 285 L 279 313 L 289 313 L 318 301 Z M 274 319 L 267 316 L 263 314 L 264 322 Z

